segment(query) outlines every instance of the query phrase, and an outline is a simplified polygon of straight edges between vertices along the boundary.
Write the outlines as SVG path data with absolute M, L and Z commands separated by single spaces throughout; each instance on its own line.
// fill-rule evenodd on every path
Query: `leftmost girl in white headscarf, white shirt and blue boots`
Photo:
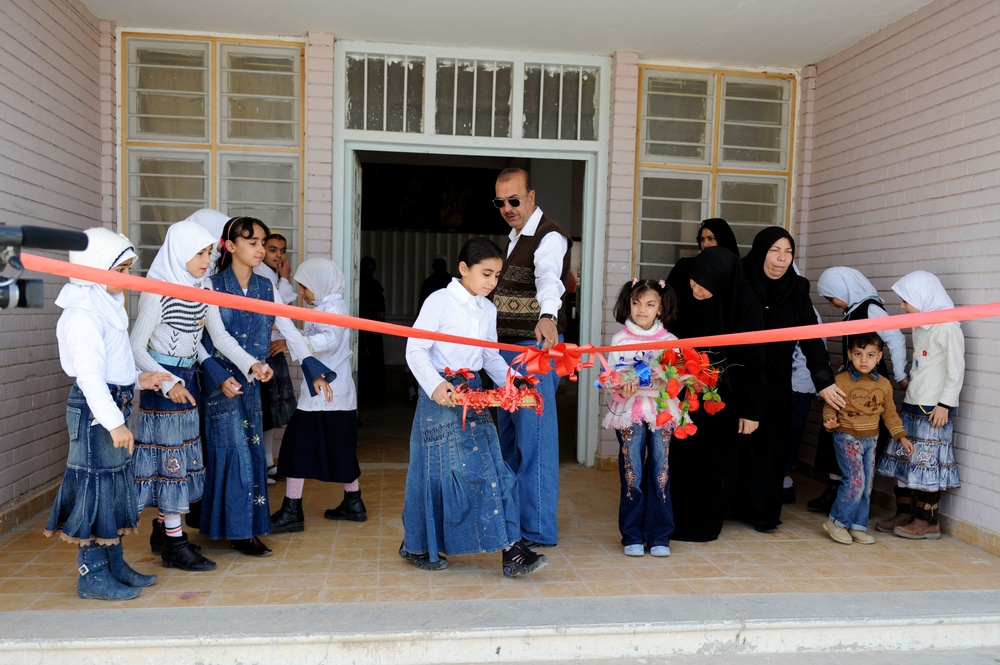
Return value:
M 87 249 L 70 252 L 70 263 L 128 273 L 135 248 L 123 235 L 87 229 Z M 128 343 L 124 289 L 71 278 L 56 298 L 59 363 L 73 377 L 66 404 L 69 458 L 45 525 L 79 546 L 80 598 L 129 600 L 156 582 L 123 558 L 121 537 L 139 525 L 131 473 L 128 422 L 135 383 L 157 388 L 169 375 L 137 372 Z

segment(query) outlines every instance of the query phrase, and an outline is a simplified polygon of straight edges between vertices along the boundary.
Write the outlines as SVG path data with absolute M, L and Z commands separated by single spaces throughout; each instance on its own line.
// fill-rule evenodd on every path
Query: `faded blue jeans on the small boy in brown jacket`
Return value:
M 830 509 L 830 519 L 845 529 L 868 530 L 877 440 L 877 436 L 833 433 L 833 450 L 837 453 L 844 480 Z

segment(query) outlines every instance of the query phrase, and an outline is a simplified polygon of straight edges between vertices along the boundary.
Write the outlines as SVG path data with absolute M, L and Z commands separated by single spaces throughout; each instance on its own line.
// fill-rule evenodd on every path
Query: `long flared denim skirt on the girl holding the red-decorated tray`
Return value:
M 469 381 L 478 388 L 479 379 Z M 521 537 L 516 479 L 488 411 L 437 404 L 420 391 L 410 431 L 403 546 L 414 554 L 496 552 Z

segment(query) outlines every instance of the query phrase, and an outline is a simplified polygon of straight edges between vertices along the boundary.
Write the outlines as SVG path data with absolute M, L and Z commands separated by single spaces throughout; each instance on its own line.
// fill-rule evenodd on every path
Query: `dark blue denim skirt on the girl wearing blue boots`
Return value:
M 133 387 L 108 389 L 128 424 Z M 87 398 L 75 383 L 66 403 L 66 426 L 69 458 L 45 535 L 59 532 L 63 540 L 79 545 L 115 545 L 139 524 L 132 458 L 127 448 L 114 447 L 103 425 L 94 423 Z

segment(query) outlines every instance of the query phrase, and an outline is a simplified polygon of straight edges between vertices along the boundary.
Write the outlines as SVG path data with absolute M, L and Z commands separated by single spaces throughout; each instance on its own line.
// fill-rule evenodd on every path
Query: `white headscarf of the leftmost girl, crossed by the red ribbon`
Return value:
M 87 234 L 87 249 L 70 252 L 69 262 L 99 270 L 111 270 L 129 259 L 137 259 L 132 241 L 109 229 L 97 227 L 84 231 Z M 76 277 L 70 278 L 56 297 L 56 306 L 66 309 L 80 307 L 95 312 L 118 330 L 128 330 L 128 312 L 125 311 L 125 296 L 111 295 L 104 284 L 88 282 Z

